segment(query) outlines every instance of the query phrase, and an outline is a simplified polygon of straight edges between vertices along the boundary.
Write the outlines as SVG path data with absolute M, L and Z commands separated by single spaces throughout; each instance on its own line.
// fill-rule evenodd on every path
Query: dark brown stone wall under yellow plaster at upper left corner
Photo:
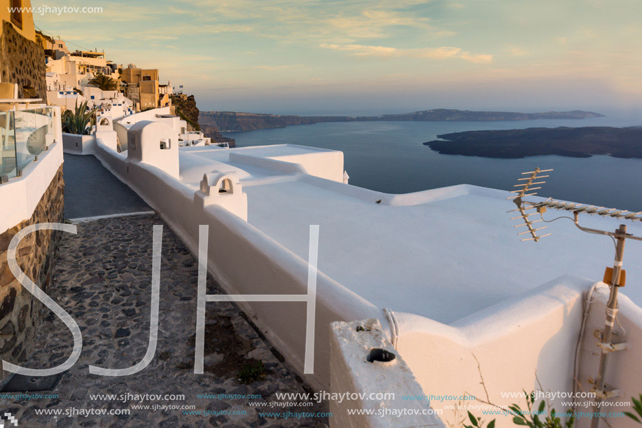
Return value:
M 2 22 L 0 80 L 18 83 L 18 97 L 47 99 L 45 51 L 22 37 L 10 22 Z M 24 89 L 23 88 L 30 88 Z

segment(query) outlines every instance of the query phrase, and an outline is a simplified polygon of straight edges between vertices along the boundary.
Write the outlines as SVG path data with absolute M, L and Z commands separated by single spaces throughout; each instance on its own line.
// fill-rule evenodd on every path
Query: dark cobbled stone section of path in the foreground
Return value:
M 310 391 L 279 362 L 231 303 L 207 303 L 205 373 L 193 373 L 197 262 L 167 226 L 163 228 L 158 347 L 143 371 L 122 377 L 91 375 L 88 364 L 126 368 L 142 359 L 149 335 L 152 227 L 158 216 L 102 219 L 78 225 L 64 235 L 49 294 L 71 314 L 83 333 L 83 352 L 53 393 L 57 399 L 13 401 L 8 409 L 22 427 L 325 427 L 327 418 L 271 419 L 272 411 L 327 411 L 249 406 L 276 401 L 274 392 Z M 211 277 L 208 294 L 222 292 Z M 36 343 L 39 350 L 24 366 L 60 364 L 71 351 L 71 333 L 50 312 Z M 262 361 L 265 378 L 246 385 L 237 373 Z M 92 399 L 92 394 L 184 394 L 185 400 Z M 262 399 L 199 399 L 197 394 L 259 394 Z M 131 397 L 131 396 L 130 396 Z M 120 398 L 120 397 L 119 397 Z M 209 415 L 183 410 L 139 410 L 132 406 L 194 405 Z M 36 409 L 62 409 L 63 415 L 36 415 Z M 130 409 L 130 415 L 71 416 L 73 409 Z M 71 410 L 69 410 L 71 409 Z M 215 415 L 214 412 L 223 413 Z M 246 415 L 232 415 L 242 413 Z M 228 414 L 225 414 L 228 413 Z

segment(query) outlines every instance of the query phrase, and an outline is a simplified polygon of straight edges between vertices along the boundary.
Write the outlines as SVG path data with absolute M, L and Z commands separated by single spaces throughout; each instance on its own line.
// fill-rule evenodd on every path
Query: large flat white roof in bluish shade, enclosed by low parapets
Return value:
M 198 149 L 189 152 L 197 157 L 181 156 L 184 181 L 197 184 L 213 163 L 239 172 L 249 223 L 304 260 L 309 225 L 318 224 L 319 270 L 380 308 L 452 323 L 561 275 L 599 280 L 613 264 L 609 237 L 581 232 L 566 219 L 550 223 L 552 236 L 521 242 L 505 191 L 453 186 L 412 194 L 416 205 L 391 206 L 376 202 L 382 193 L 301 175 L 262 182 L 283 173 L 230 164 L 228 150 Z M 298 146 L 248 149 L 256 156 L 302 153 Z M 545 218 L 561 215 L 568 213 L 550 210 Z M 582 216 L 582 222 L 614 230 L 622 221 Z M 639 223 L 626 223 L 642 235 Z M 641 256 L 642 242 L 627 242 L 629 286 L 622 293 L 638 305 Z

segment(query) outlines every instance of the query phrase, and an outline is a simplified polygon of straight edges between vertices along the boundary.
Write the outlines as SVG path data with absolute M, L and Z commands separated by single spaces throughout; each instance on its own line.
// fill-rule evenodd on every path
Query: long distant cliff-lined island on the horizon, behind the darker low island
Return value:
M 512 111 L 470 111 L 433 109 L 413 113 L 385 114 L 382 116 L 281 116 L 265 113 L 241 113 L 237 111 L 201 111 L 198 122 L 204 127 L 216 127 L 225 131 L 252 131 L 289 125 L 310 125 L 324 122 L 386 122 L 386 121 L 456 121 L 487 122 L 496 120 L 535 119 L 584 119 L 601 118 L 592 111 L 547 111 L 545 113 L 515 113 Z

